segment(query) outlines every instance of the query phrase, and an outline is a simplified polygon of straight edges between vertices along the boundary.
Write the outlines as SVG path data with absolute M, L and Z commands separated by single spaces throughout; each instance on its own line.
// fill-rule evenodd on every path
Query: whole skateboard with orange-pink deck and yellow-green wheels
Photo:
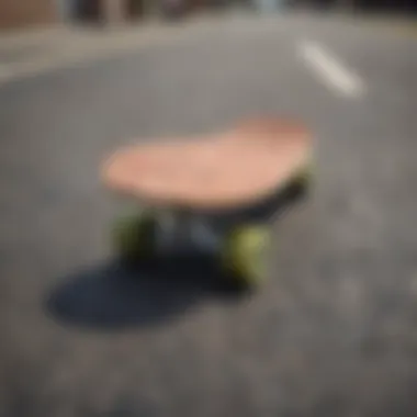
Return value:
M 271 213 L 253 213 L 289 187 L 306 189 L 311 144 L 302 124 L 264 117 L 119 149 L 102 167 L 106 188 L 134 203 L 113 227 L 117 255 L 137 262 L 198 250 L 235 282 L 257 285 Z

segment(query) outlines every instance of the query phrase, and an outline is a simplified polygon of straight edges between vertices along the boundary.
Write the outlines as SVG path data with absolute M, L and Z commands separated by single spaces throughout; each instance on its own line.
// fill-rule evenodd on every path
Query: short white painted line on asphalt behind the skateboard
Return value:
M 300 43 L 298 52 L 309 68 L 315 70 L 322 80 L 337 93 L 348 98 L 360 98 L 364 94 L 365 86 L 361 78 L 317 42 Z

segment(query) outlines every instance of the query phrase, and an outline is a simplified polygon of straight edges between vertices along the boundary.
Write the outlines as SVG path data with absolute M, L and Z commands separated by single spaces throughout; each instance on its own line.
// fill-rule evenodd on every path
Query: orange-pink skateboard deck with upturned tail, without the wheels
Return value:
M 104 164 L 113 191 L 157 206 L 223 210 L 268 196 L 307 164 L 300 123 L 255 119 L 217 134 L 126 147 Z

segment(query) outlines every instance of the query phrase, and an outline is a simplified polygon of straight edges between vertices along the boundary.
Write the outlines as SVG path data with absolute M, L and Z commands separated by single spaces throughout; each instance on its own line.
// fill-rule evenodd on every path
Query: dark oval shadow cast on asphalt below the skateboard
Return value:
M 97 329 L 155 326 L 218 294 L 233 294 L 210 259 L 165 260 L 153 266 L 117 262 L 67 277 L 46 309 L 66 325 Z

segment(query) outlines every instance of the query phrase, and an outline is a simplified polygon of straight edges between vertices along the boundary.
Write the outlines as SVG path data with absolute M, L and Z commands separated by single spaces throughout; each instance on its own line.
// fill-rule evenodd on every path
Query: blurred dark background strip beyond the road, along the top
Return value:
M 149 16 L 187 15 L 244 8 L 258 12 L 308 8 L 319 10 L 407 13 L 417 7 L 412 0 L 12 0 L 0 2 L 0 26 L 33 23 L 138 22 Z

